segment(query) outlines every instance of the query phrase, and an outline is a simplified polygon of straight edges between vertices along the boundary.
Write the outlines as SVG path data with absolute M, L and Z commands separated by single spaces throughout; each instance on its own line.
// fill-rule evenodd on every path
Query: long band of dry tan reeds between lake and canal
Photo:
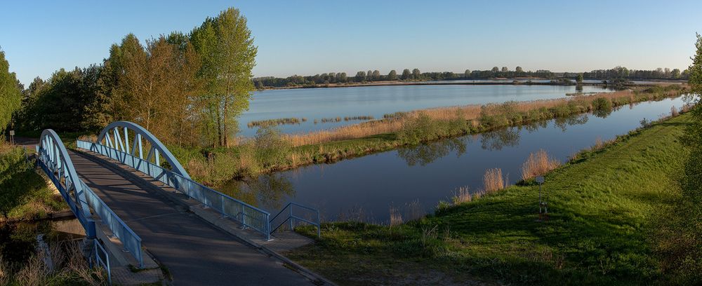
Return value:
M 468 127 L 464 130 L 465 132 L 472 131 L 478 127 L 491 128 L 524 124 L 587 111 L 611 110 L 611 108 L 623 104 L 671 97 L 679 93 L 679 86 L 670 86 L 668 88 L 649 88 L 644 91 L 623 90 L 614 93 L 597 93 L 553 100 L 438 107 L 385 114 L 383 119 L 380 120 L 346 125 L 330 130 L 288 135 L 288 139 L 293 146 L 297 147 L 395 133 L 406 127 L 407 122 L 416 121 L 420 116 L 426 116 L 432 121 L 469 121 Z M 340 118 L 333 119 L 340 121 Z

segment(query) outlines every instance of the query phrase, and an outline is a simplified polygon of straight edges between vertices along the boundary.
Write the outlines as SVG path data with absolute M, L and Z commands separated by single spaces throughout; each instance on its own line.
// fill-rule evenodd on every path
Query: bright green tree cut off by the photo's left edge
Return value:
M 17 83 L 17 76 L 10 72 L 10 63 L 5 60 L 5 52 L 0 50 L 0 131 L 8 127 L 12 114 L 20 108 L 22 93 Z

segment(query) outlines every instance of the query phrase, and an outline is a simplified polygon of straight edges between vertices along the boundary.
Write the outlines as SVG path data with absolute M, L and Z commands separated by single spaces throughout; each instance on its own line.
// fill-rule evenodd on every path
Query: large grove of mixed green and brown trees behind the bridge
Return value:
M 15 79 L 21 104 L 10 113 L 13 128 L 97 132 L 125 120 L 168 144 L 227 146 L 254 90 L 257 49 L 236 8 L 206 18 L 188 34 L 146 41 L 127 34 L 99 64 L 59 69 L 27 88 Z

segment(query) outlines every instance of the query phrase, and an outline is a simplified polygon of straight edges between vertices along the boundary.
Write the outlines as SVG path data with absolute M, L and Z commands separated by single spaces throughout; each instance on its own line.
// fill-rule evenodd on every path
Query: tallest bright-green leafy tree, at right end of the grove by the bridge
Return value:
M 258 48 L 246 18 L 236 8 L 207 18 L 192 31 L 190 41 L 201 61 L 199 76 L 209 114 L 206 129 L 211 137 L 216 134 L 215 145 L 228 146 L 228 138 L 238 129 L 236 118 L 249 108 Z

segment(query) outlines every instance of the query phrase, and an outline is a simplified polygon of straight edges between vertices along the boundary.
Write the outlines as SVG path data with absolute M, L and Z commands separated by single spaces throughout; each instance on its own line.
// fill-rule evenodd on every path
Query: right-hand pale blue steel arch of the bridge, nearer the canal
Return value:
M 133 139 L 131 140 L 130 135 L 133 135 Z M 150 146 L 146 158 L 144 158 L 144 139 L 147 140 Z M 176 156 L 173 156 L 171 151 L 168 151 L 166 145 L 161 143 L 161 140 L 149 132 L 149 130 L 146 130 L 136 123 L 130 121 L 115 121 L 110 123 L 110 125 L 107 125 L 107 127 L 100 131 L 95 143 L 116 149 L 117 151 L 124 152 L 134 157 L 138 154 L 138 158 L 147 162 L 153 159 L 157 166 L 161 166 L 161 157 L 163 157 L 168 164 L 171 165 L 171 172 L 190 179 L 190 175 L 187 174 L 183 165 L 180 165 Z

